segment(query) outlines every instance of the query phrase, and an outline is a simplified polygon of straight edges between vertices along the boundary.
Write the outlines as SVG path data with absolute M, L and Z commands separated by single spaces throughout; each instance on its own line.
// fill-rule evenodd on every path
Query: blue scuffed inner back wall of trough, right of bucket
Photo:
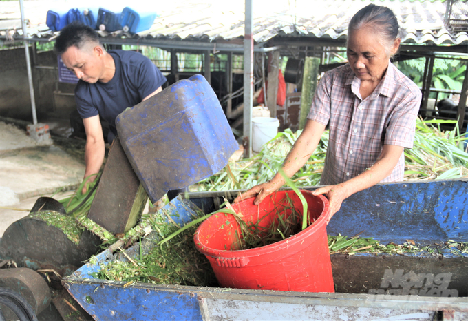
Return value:
M 467 180 L 379 184 L 346 199 L 328 234 L 421 243 L 468 239 Z

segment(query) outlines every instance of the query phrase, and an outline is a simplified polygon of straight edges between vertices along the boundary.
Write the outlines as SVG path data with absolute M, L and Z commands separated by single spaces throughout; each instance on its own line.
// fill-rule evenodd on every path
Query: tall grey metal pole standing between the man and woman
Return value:
M 253 105 L 253 6 L 245 2 L 244 35 L 244 156 L 252 157 L 252 105 Z

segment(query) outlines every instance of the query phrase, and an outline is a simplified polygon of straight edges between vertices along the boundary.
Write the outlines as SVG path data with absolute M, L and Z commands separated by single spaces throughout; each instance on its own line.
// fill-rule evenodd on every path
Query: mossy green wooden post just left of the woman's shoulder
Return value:
M 320 59 L 306 57 L 304 60 L 304 75 L 302 77 L 301 112 L 299 114 L 299 130 L 304 130 L 307 115 L 312 106 L 312 98 L 317 88 Z

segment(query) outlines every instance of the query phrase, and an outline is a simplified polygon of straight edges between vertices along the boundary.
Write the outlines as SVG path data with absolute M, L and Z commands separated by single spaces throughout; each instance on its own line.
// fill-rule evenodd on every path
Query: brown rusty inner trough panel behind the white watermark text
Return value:
M 336 292 L 468 296 L 468 258 L 345 254 L 330 258 Z

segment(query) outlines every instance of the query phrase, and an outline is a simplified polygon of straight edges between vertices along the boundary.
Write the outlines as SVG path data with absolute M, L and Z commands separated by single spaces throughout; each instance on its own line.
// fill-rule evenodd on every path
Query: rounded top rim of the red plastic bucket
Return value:
M 289 190 L 286 191 L 277 191 L 275 193 L 280 193 L 280 192 L 288 192 Z M 286 238 L 285 240 L 281 240 L 279 242 L 275 242 L 270 245 L 264 245 L 262 247 L 255 247 L 254 249 L 242 249 L 242 250 L 236 250 L 236 251 L 231 251 L 231 250 L 224 250 L 224 249 L 213 249 L 213 247 L 208 247 L 203 244 L 203 242 L 198 238 L 199 231 L 201 231 L 204 227 L 204 225 L 209 224 L 209 220 L 213 218 L 213 216 L 210 216 L 202 224 L 198 227 L 198 229 L 195 231 L 195 235 L 193 236 L 193 240 L 195 241 L 195 247 L 198 249 L 198 251 L 202 252 L 206 256 L 211 256 L 213 258 L 218 258 L 218 257 L 231 257 L 231 258 L 237 258 L 237 257 L 248 257 L 248 256 L 258 256 L 259 254 L 268 254 L 273 251 L 277 251 L 279 249 L 284 249 L 286 247 L 290 247 L 292 245 L 296 245 L 298 242 L 304 241 L 306 237 L 308 236 L 309 232 L 311 229 L 321 229 L 323 225 L 326 225 L 326 220 L 330 214 L 330 203 L 328 203 L 328 199 L 323 196 L 323 195 L 312 195 L 311 191 L 304 191 L 301 190 L 303 194 L 310 194 L 310 196 L 313 196 L 315 198 L 319 198 L 321 202 L 323 203 L 323 210 L 321 211 L 321 214 L 315 222 L 312 223 L 312 225 L 309 225 L 304 229 L 303 231 L 300 231 L 299 233 L 290 236 L 289 238 Z M 253 200 L 255 198 L 248 198 L 246 200 L 243 200 L 240 203 L 244 202 L 251 202 L 253 203 Z M 262 203 L 266 200 L 266 198 L 262 201 Z M 257 205 L 259 207 L 260 205 Z M 220 212 L 222 214 L 224 212 Z M 233 215 L 229 213 L 224 213 L 228 215 Z M 213 218 L 214 219 L 214 218 Z M 304 245 L 306 246 L 306 245 Z

